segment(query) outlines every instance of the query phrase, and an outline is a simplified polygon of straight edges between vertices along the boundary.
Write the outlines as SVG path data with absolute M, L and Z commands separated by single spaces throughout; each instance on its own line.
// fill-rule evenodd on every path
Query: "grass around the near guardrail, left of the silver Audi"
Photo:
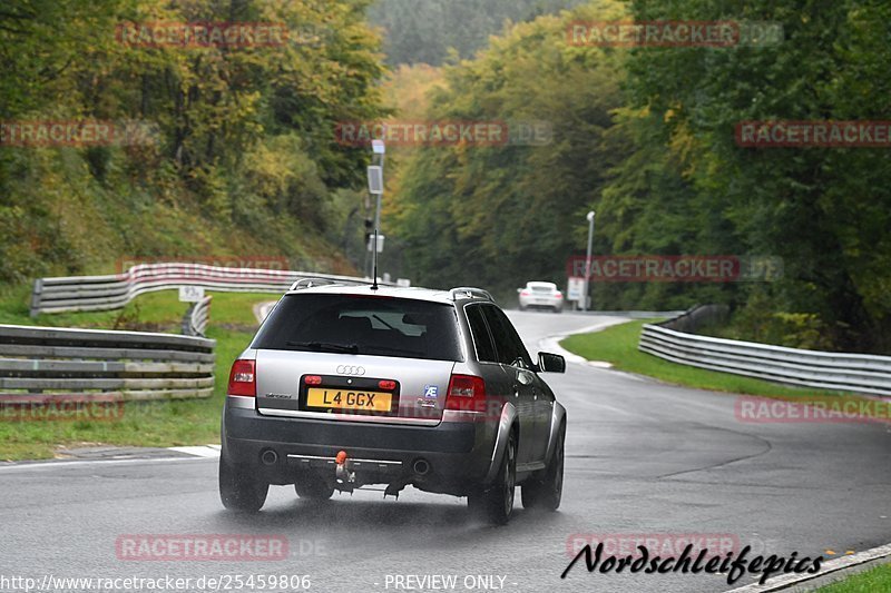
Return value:
M 98 327 L 178 333 L 187 305 L 176 290 L 143 295 L 120 312 L 28 317 L 27 306 L 11 290 L 0 298 L 0 323 Z M 41 459 L 60 447 L 88 445 L 172 447 L 219 442 L 223 408 L 232 362 L 247 346 L 256 327 L 253 305 L 280 295 L 213 293 L 207 337 L 216 340 L 215 389 L 205 399 L 128 402 L 109 419 L 0 419 L 0 459 Z

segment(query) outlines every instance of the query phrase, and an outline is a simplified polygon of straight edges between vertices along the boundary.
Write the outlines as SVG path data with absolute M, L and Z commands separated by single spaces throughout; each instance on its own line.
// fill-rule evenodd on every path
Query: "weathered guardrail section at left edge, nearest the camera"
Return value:
M 0 325 L 0 403 L 209 397 L 212 339 Z

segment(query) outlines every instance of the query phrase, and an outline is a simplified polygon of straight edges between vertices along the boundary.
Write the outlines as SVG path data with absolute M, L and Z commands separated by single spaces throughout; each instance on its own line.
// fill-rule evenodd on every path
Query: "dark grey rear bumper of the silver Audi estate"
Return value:
M 345 451 L 364 484 L 405 482 L 421 490 L 466 494 L 486 477 L 495 428 L 488 423 L 442 422 L 437 426 L 363 424 L 263 416 L 227 402 L 223 413 L 223 455 L 252 467 L 271 484 L 291 484 L 302 472 L 333 472 L 331 459 Z M 263 461 L 264 453 L 275 453 Z M 428 471 L 420 475 L 417 462 Z

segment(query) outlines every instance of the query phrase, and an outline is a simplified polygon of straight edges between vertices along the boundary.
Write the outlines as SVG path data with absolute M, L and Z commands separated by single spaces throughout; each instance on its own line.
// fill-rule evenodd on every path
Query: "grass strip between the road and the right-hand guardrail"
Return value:
M 618 370 L 637 373 L 666 383 L 734 394 L 760 395 L 779 398 L 802 396 L 838 396 L 836 392 L 786 387 L 728 373 L 706 370 L 695 366 L 678 365 L 637 349 L 640 328 L 658 319 L 644 319 L 614 325 L 594 334 L 569 336 L 560 346 L 588 360 L 605 360 Z

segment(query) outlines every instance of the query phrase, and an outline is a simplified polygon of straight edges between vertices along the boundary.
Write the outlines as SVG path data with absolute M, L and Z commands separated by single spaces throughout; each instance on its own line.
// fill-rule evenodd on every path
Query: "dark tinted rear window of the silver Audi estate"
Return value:
M 286 295 L 263 324 L 253 348 L 335 352 L 461 360 L 451 305 L 376 295 Z

